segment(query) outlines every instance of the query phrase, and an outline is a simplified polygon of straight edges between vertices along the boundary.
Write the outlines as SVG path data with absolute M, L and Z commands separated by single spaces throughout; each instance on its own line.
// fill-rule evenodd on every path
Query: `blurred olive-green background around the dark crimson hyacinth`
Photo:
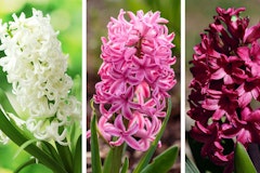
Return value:
M 185 84 L 186 84 L 186 98 L 190 94 L 188 84 L 192 79 L 190 72 L 191 65 L 188 62 L 192 59 L 194 53 L 193 46 L 200 42 L 200 34 L 204 32 L 204 29 L 208 28 L 210 23 L 213 23 L 213 15 L 217 15 L 216 8 L 221 6 L 224 9 L 227 8 L 240 8 L 245 6 L 246 11 L 240 13 L 240 16 L 248 16 L 250 18 L 249 25 L 256 25 L 260 17 L 260 1 L 259 0 L 186 0 L 185 1 Z M 186 111 L 190 109 L 188 104 L 186 103 Z M 193 125 L 193 120 L 190 117 L 185 117 L 185 128 L 186 131 Z M 186 141 L 188 135 L 186 135 Z M 214 165 L 208 160 L 202 159 L 199 152 L 202 147 L 193 143 L 193 148 L 196 150 L 196 156 L 199 159 L 195 159 L 199 167 L 207 170 L 211 169 L 211 172 L 221 172 L 222 169 L 214 168 Z M 190 147 L 186 146 L 186 154 L 192 158 Z

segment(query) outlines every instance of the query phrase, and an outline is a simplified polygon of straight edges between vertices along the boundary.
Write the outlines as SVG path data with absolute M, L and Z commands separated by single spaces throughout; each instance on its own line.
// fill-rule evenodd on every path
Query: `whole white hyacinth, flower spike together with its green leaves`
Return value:
M 0 21 L 0 51 L 4 54 L 0 66 L 12 84 L 11 96 L 6 97 L 0 91 L 1 98 L 4 97 L 1 122 L 8 120 L 0 128 L 15 144 L 25 145 L 27 152 L 52 171 L 78 172 L 80 168 L 77 171 L 74 168 L 80 165 L 81 154 L 77 152 L 80 162 L 73 163 L 75 154 L 70 147 L 81 150 L 81 133 L 74 134 L 79 139 L 77 147 L 68 138 L 72 129 L 80 129 L 81 103 L 70 94 L 74 82 L 66 74 L 68 56 L 62 52 L 58 32 L 52 28 L 50 16 L 43 16 L 35 9 L 31 17 L 22 13 L 20 16 L 13 14 L 13 19 L 4 24 Z M 6 104 L 11 97 L 15 102 Z M 18 110 L 16 112 L 12 107 L 21 110 L 15 109 Z M 55 157 L 42 149 L 44 147 L 56 152 Z

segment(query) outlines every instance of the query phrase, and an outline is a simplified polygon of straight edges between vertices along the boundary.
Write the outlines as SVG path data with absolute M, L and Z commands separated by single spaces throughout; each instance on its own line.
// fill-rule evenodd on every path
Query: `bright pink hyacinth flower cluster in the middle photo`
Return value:
M 107 25 L 94 102 L 102 114 L 99 131 L 113 146 L 126 142 L 146 150 L 160 130 L 167 92 L 176 84 L 170 67 L 176 62 L 171 55 L 174 35 L 168 35 L 166 23 L 159 12 L 135 15 L 121 10 Z

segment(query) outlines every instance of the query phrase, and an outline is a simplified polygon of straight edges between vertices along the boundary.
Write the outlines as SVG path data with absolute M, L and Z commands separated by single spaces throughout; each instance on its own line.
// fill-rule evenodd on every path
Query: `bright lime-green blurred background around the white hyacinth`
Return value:
M 20 16 L 24 12 L 27 17 L 31 16 L 31 9 L 41 10 L 43 15 L 51 16 L 51 24 L 55 30 L 60 30 L 58 40 L 62 42 L 63 52 L 69 55 L 67 74 L 75 78 L 81 76 L 82 58 L 82 4 L 81 0 L 1 0 L 0 18 L 3 23 L 13 21 L 12 14 Z M 1 56 L 3 53 L 1 53 Z M 6 82 L 6 77 L 0 68 L 0 86 L 11 90 L 11 84 Z M 78 80 L 80 83 L 80 81 Z M 79 84 L 77 83 L 77 84 Z M 80 85 L 80 84 L 79 84 Z M 78 94 L 80 95 L 80 94 Z M 0 144 L 0 173 L 11 173 L 21 163 L 29 159 L 29 155 L 22 151 L 14 158 L 18 147 L 12 142 L 8 145 Z M 30 165 L 22 173 L 49 173 L 48 169 L 38 164 Z

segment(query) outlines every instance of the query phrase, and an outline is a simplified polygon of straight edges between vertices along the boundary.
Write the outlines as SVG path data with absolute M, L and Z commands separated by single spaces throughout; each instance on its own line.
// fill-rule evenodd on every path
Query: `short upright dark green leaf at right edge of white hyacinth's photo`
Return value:
M 81 135 L 78 137 L 77 144 L 76 144 L 76 149 L 75 149 L 75 154 L 74 154 L 74 164 L 73 164 L 73 172 L 74 173 L 81 173 L 81 149 L 82 145 L 81 145 Z

